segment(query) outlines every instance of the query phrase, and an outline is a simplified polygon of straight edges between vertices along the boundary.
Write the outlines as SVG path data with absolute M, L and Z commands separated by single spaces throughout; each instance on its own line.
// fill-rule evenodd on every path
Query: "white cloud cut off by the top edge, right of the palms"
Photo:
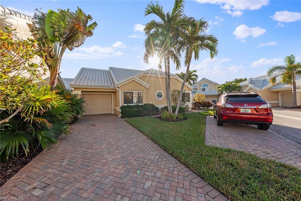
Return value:
M 258 10 L 269 4 L 268 0 L 196 0 L 198 3 L 210 3 L 220 5 L 225 13 L 232 17 L 239 17 L 243 14 L 242 10 Z

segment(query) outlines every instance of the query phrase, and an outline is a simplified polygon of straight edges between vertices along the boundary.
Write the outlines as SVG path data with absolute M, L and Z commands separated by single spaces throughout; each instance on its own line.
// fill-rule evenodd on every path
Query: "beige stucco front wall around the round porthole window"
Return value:
M 141 76 L 139 79 L 145 81 L 147 84 L 149 84 L 149 88 L 146 90 L 147 93 L 147 103 L 153 103 L 156 106 L 162 107 L 167 105 L 166 102 L 166 90 L 165 90 L 165 78 L 164 77 L 155 77 L 155 76 Z M 170 78 L 170 85 L 171 85 L 171 91 L 176 89 L 180 90 L 182 86 L 182 82 L 180 82 L 176 78 Z M 188 88 L 186 85 L 184 87 L 184 90 L 187 92 L 191 92 L 191 89 Z M 163 92 L 163 99 L 158 100 L 156 98 L 157 91 Z M 144 97 L 143 97 L 144 98 Z

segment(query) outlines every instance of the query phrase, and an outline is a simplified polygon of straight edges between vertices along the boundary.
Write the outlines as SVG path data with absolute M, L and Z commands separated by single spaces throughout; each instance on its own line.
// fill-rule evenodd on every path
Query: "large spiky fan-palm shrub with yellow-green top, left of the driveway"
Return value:
M 30 91 L 30 98 L 20 112 L 0 125 L 1 159 L 14 157 L 20 147 L 26 154 L 29 147 L 35 149 L 41 145 L 46 149 L 50 143 L 56 144 L 61 134 L 70 134 L 68 101 L 51 91 L 50 86 L 32 87 Z M 1 120 L 12 112 L 2 110 Z

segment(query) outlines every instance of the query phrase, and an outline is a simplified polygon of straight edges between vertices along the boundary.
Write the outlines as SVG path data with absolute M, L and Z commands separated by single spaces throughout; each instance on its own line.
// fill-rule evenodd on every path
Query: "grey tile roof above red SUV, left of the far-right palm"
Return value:
M 269 82 L 271 77 L 274 77 L 276 75 L 280 75 L 281 73 L 274 73 L 271 76 L 268 75 L 262 75 L 256 78 L 251 78 L 246 81 L 240 82 L 239 85 L 249 85 L 252 86 L 255 89 L 261 90 L 264 88 L 267 88 L 268 86 L 272 86 L 272 84 Z M 276 82 L 279 82 L 281 80 L 281 76 L 276 77 Z

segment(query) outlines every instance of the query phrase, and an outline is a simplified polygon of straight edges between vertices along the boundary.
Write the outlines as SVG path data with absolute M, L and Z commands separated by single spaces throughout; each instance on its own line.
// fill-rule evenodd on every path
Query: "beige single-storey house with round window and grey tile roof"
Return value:
M 171 90 L 180 89 L 182 79 L 171 74 Z M 108 70 L 81 68 L 71 81 L 74 94 L 87 103 L 85 115 L 115 113 L 126 104 L 167 105 L 165 73 L 156 69 L 135 70 L 110 67 Z M 186 104 L 192 106 L 192 87 L 185 84 Z

